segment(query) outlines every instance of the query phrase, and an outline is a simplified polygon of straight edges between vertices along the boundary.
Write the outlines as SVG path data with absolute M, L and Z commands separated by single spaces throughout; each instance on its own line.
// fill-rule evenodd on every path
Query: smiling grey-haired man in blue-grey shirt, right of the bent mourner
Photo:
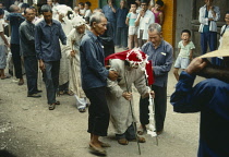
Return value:
M 153 63 L 155 83 L 152 89 L 155 92 L 155 121 L 156 132 L 159 135 L 164 131 L 167 108 L 167 82 L 168 73 L 172 65 L 172 47 L 162 39 L 161 26 L 153 23 L 148 26 L 148 43 L 143 45 L 142 51 L 148 55 Z M 140 100 L 140 134 L 146 130 L 148 124 L 148 99 Z

